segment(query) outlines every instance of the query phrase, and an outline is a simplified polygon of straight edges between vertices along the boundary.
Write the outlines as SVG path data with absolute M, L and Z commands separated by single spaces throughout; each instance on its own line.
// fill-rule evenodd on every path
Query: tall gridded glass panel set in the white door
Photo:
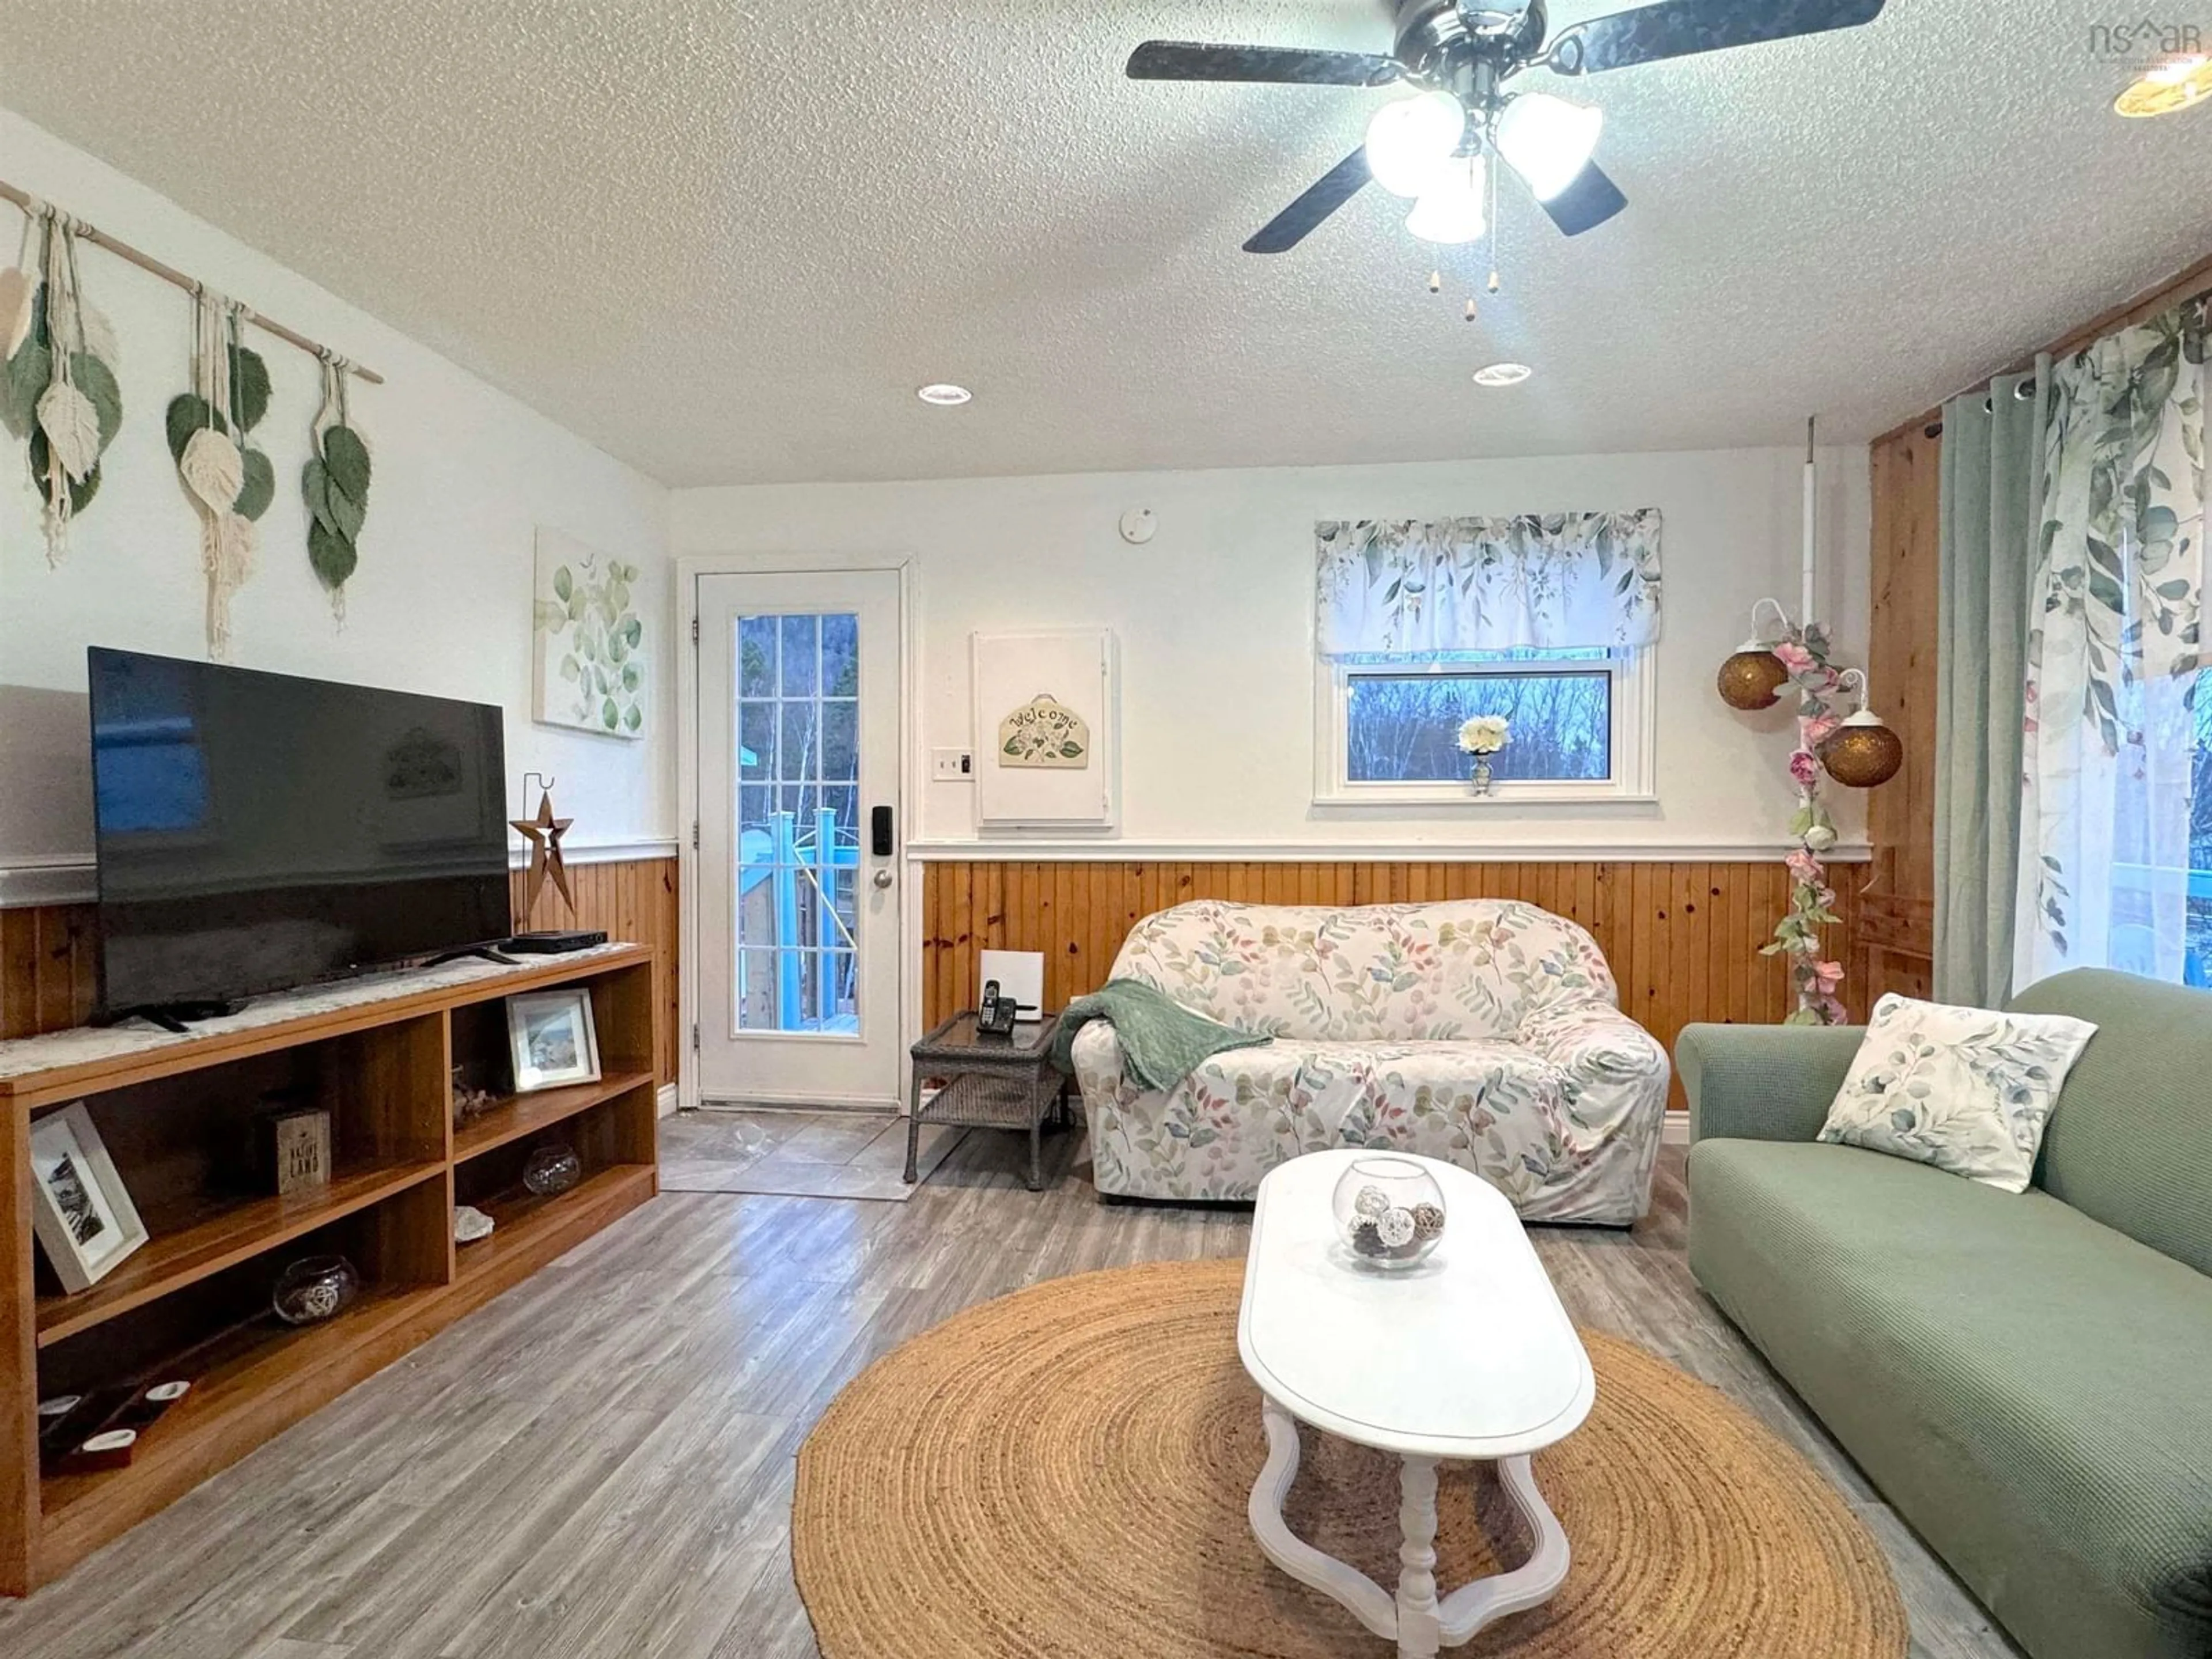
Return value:
M 734 1024 L 856 1033 L 858 617 L 741 617 L 737 644 Z

